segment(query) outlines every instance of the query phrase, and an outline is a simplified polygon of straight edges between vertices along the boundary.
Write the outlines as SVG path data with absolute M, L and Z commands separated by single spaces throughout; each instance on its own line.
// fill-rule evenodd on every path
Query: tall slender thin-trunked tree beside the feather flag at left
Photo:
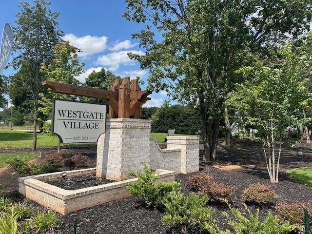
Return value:
M 29 90 L 33 104 L 33 150 L 37 149 L 39 93 L 43 80 L 40 66 L 51 62 L 55 45 L 62 36 L 57 22 L 59 13 L 47 9 L 49 4 L 46 0 L 34 0 L 33 6 L 28 2 L 20 2 L 20 12 L 16 15 L 17 26 L 13 29 L 14 50 L 18 53 L 13 59 L 13 67 L 19 70 L 20 85 Z

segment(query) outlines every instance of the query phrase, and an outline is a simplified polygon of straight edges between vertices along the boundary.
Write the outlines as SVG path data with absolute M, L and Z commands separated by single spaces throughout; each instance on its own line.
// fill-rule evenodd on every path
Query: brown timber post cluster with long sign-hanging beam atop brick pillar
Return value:
M 151 91 L 141 91 L 138 80 L 130 77 L 116 79 L 110 90 L 82 87 L 54 81 L 43 81 L 42 85 L 51 88 L 54 93 L 105 99 L 109 104 L 109 118 L 141 118 L 141 106 Z

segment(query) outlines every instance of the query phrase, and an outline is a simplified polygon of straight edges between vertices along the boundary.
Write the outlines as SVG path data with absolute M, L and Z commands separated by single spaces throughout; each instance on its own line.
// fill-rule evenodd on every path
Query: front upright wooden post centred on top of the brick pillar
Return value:
M 122 80 L 118 91 L 118 118 L 130 118 L 130 77 Z

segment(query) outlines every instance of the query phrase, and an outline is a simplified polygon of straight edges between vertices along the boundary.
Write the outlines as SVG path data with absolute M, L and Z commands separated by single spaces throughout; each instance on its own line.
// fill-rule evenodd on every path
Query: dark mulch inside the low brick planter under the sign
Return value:
M 57 186 L 61 189 L 76 190 L 76 189 L 82 189 L 82 188 L 97 186 L 100 184 L 113 183 L 116 181 L 106 179 L 106 178 L 97 179 L 96 176 L 84 175 L 84 176 L 76 176 L 76 177 L 70 177 L 70 178 L 65 177 L 65 179 L 58 178 L 58 179 L 49 180 L 49 181 L 45 181 L 45 182 L 48 184 L 52 184 L 54 186 Z

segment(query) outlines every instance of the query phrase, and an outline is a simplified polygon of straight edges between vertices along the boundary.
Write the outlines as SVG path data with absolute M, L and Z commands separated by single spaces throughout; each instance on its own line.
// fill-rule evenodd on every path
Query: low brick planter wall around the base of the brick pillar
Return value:
M 43 182 L 61 177 L 61 173 L 20 177 L 19 192 L 26 198 L 32 199 L 44 207 L 51 208 L 65 215 L 87 207 L 129 197 L 131 195 L 127 192 L 125 186 L 129 182 L 137 180 L 137 178 L 132 178 L 78 190 L 65 190 Z M 69 177 L 89 174 L 95 175 L 96 168 L 68 171 L 66 173 Z M 159 181 L 175 180 L 175 172 L 173 171 L 156 170 L 156 173 L 159 175 Z

